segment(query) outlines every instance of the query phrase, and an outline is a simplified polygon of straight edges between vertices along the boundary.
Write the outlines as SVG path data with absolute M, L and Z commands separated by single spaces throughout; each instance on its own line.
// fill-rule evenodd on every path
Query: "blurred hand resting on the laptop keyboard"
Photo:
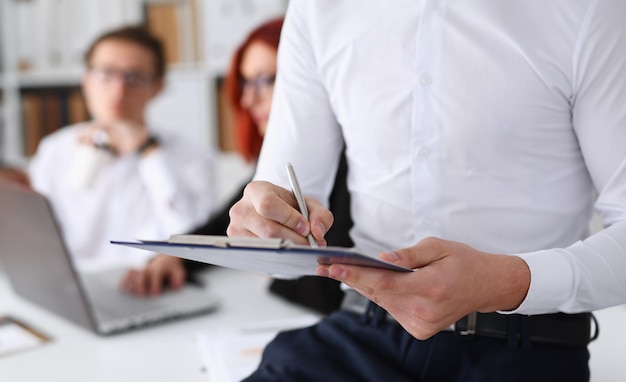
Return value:
M 129 270 L 120 282 L 123 290 L 137 296 L 157 296 L 167 284 L 179 289 L 185 283 L 187 273 L 178 257 L 156 255 L 144 269 Z

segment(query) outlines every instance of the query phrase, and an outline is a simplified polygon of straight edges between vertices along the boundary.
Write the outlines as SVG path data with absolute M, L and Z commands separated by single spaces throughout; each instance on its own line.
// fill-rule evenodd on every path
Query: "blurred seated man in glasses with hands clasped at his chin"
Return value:
M 146 125 L 165 59 L 145 29 L 103 34 L 85 63 L 92 120 L 42 140 L 29 168 L 32 186 L 51 201 L 76 260 L 140 264 L 149 253 L 109 241 L 167 239 L 205 221 L 214 207 L 213 154 Z

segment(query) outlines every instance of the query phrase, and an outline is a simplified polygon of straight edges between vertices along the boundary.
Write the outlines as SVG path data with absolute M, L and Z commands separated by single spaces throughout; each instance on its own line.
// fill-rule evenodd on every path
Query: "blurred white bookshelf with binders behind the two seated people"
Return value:
M 84 50 L 105 30 L 139 23 L 164 40 L 168 61 L 166 87 L 149 106 L 148 123 L 227 150 L 216 84 L 247 32 L 284 14 L 287 3 L 0 1 L 0 161 L 26 167 L 41 137 L 88 118 L 80 101 Z

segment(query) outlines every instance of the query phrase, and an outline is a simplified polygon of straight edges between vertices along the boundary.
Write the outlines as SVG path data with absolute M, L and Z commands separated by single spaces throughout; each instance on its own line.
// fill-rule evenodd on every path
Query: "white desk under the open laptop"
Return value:
M 214 269 L 210 285 L 222 306 L 204 316 L 169 322 L 111 337 L 100 337 L 17 297 L 0 269 L 0 315 L 10 314 L 45 331 L 54 340 L 37 349 L 0 358 L 0 380 L 64 381 L 208 381 L 195 333 L 310 312 L 267 291 L 265 276 Z M 600 338 L 590 345 L 591 381 L 626 380 L 626 307 L 596 313 Z

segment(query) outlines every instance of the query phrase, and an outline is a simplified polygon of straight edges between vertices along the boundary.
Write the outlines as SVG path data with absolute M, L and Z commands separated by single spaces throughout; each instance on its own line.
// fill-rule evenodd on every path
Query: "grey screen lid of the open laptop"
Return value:
M 87 301 L 47 200 L 0 181 L 0 260 L 14 291 L 94 330 Z

